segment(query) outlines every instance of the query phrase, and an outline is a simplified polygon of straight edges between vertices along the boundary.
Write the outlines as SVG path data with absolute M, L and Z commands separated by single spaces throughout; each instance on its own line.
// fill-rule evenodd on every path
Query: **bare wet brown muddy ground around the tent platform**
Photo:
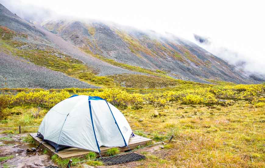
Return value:
M 0 162 L 0 168 L 4 167 L 17 167 L 17 168 L 44 168 L 49 165 L 55 165 L 51 161 L 51 156 L 48 154 L 44 154 L 42 149 L 37 149 L 36 152 L 27 152 L 27 148 L 32 148 L 37 146 L 32 145 L 30 143 L 25 143 L 22 141 L 24 136 L 27 136 L 28 133 L 22 133 L 19 135 L 8 135 L 8 134 L 0 134 L 0 157 L 11 156 L 14 157 L 9 160 L 5 160 Z M 151 146 L 149 148 L 145 148 L 137 151 L 136 153 L 140 153 L 141 151 L 146 151 L 148 153 L 156 153 L 157 150 L 160 149 L 161 146 Z M 140 162 L 130 162 L 125 164 L 119 164 L 114 166 L 98 166 L 98 167 L 135 167 L 141 165 Z M 80 167 L 87 167 L 86 165 L 82 165 Z M 92 166 L 91 166 L 92 167 Z

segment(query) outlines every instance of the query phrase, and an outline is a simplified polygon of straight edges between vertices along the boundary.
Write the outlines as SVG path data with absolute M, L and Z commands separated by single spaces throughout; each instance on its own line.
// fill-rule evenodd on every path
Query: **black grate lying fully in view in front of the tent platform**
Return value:
M 115 164 L 133 162 L 133 161 L 140 160 L 140 159 L 145 159 L 145 156 L 139 155 L 133 152 L 133 153 L 128 153 L 124 155 L 101 158 L 100 161 L 106 165 L 115 165 Z

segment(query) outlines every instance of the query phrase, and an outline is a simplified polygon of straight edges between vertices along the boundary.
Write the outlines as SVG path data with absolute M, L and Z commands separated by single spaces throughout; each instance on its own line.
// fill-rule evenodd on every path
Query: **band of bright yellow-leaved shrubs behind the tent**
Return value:
M 250 105 L 263 107 L 265 98 L 260 97 L 259 93 L 265 89 L 264 85 L 235 85 L 235 86 L 214 86 L 200 89 L 186 90 L 167 90 L 163 92 L 150 92 L 148 94 L 129 93 L 126 90 L 111 88 L 88 90 L 85 92 L 74 93 L 79 95 L 99 96 L 106 99 L 119 109 L 128 107 L 140 109 L 143 105 L 153 105 L 154 107 L 164 108 L 170 106 L 170 102 L 181 102 L 190 105 L 233 105 L 236 101 L 246 100 Z M 19 92 L 16 95 L 0 95 L 0 117 L 5 119 L 8 116 L 8 109 L 14 106 L 33 106 L 51 108 L 58 102 L 67 99 L 71 94 L 66 90 L 60 92 L 50 92 L 45 90 L 34 92 Z

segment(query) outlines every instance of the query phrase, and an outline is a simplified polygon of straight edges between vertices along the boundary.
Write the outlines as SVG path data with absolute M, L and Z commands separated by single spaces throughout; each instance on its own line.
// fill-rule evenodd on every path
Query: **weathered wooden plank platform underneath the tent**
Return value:
M 79 149 L 79 148 L 74 148 L 74 147 L 70 147 L 70 148 L 66 148 L 63 150 L 59 150 L 58 153 L 55 152 L 55 148 L 53 146 L 51 146 L 50 144 L 48 144 L 47 142 L 44 142 L 41 138 L 36 137 L 37 133 L 31 133 L 30 136 L 33 137 L 33 139 L 35 140 L 35 143 L 37 145 L 41 144 L 41 148 L 42 149 L 46 149 L 48 150 L 48 153 L 50 155 L 54 155 L 57 154 L 59 157 L 61 157 L 62 159 L 68 159 L 68 158 L 72 158 L 72 157 L 78 157 L 78 156 L 84 156 L 87 153 L 89 153 L 89 150 L 84 150 L 84 149 Z M 130 149 L 135 148 L 138 145 L 145 145 L 147 142 L 151 141 L 152 139 L 148 139 L 139 135 L 135 135 L 134 137 L 130 137 L 129 139 L 129 146 Z M 101 155 L 104 156 L 105 152 L 108 149 L 111 149 L 113 147 L 105 147 L 105 146 L 101 146 L 100 150 L 101 150 Z M 128 150 L 127 147 L 119 147 L 121 153 L 124 152 L 125 150 Z

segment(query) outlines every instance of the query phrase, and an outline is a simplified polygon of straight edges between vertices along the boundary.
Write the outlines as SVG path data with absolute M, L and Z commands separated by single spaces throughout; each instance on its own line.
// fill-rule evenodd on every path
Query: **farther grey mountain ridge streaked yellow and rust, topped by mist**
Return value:
M 159 69 L 177 79 L 256 82 L 198 45 L 169 33 L 159 35 L 93 20 L 51 20 L 44 22 L 43 27 L 91 55 Z

